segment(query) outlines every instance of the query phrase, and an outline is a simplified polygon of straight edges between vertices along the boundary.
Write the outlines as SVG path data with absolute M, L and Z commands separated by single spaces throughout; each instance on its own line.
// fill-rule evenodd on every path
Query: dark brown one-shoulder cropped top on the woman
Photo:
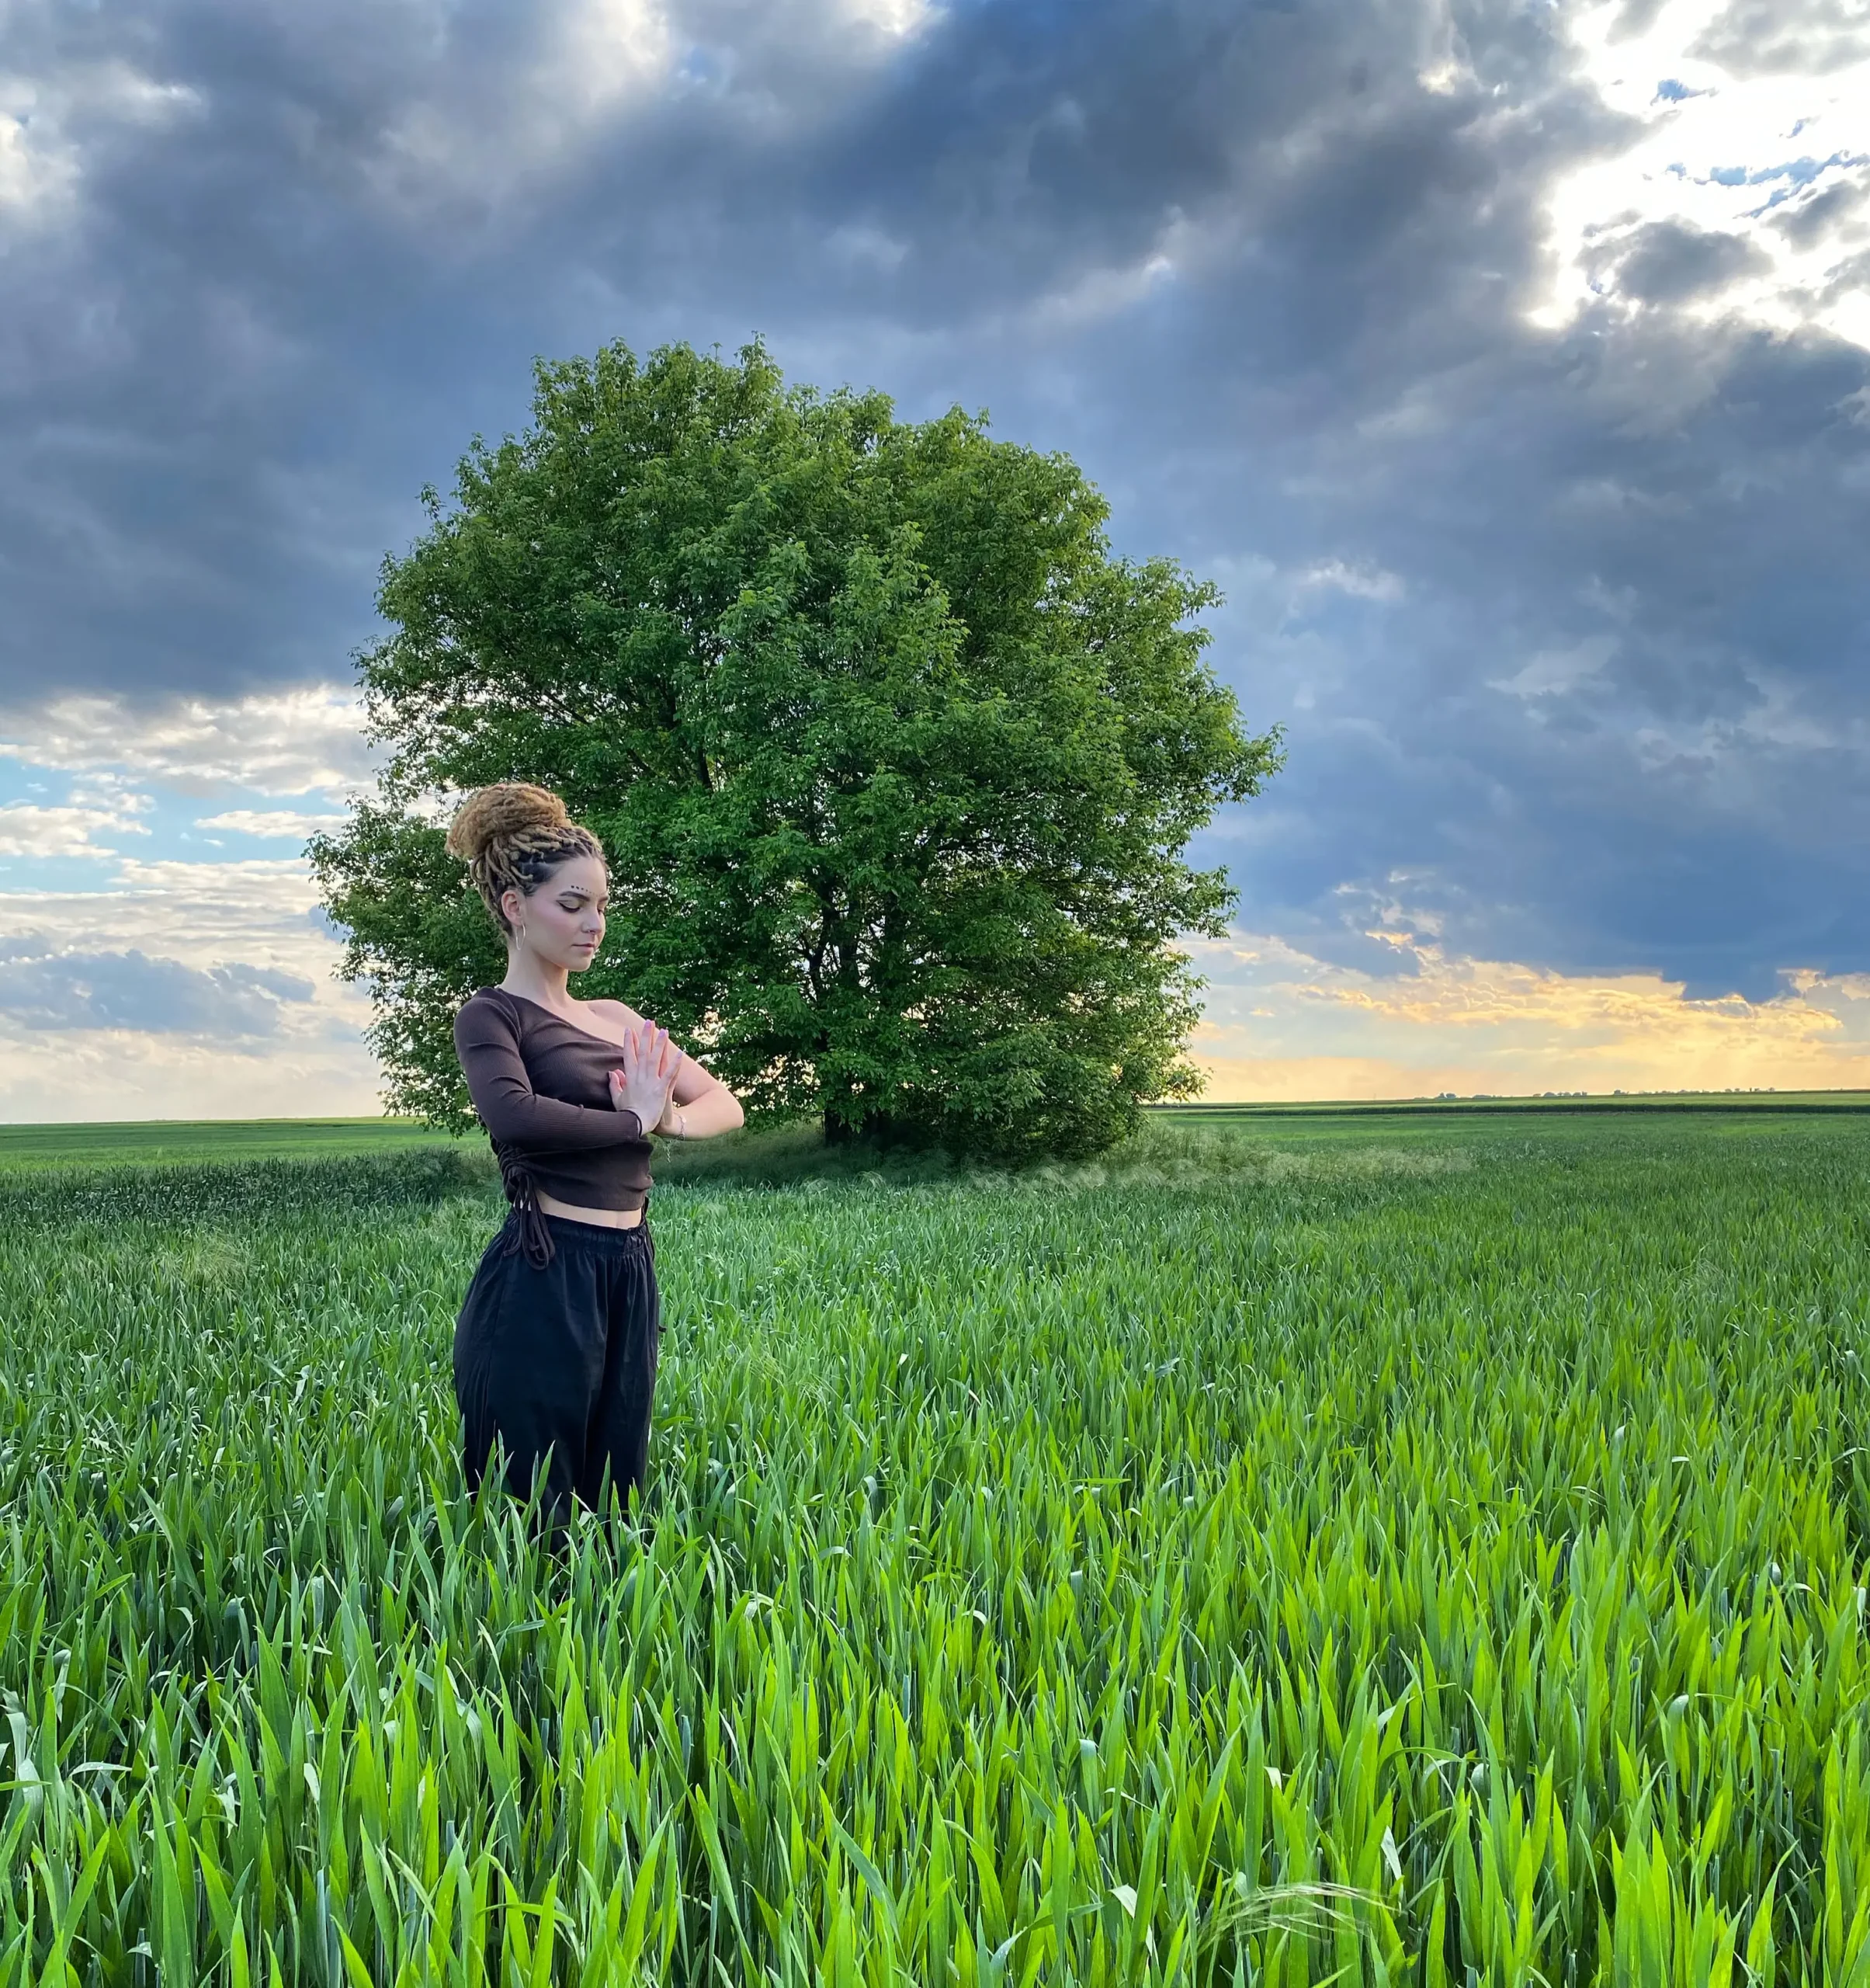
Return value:
M 541 1193 L 574 1209 L 648 1203 L 652 1147 L 642 1119 L 610 1103 L 620 1044 L 521 994 L 481 988 L 455 1016 L 455 1056 L 519 1215 L 509 1252 L 552 1260 Z

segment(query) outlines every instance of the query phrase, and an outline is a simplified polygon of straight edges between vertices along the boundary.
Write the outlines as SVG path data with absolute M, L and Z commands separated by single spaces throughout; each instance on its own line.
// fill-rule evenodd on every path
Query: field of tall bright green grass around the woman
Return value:
M 562 1559 L 485 1167 L 215 1133 L 0 1179 L 0 1988 L 1870 1980 L 1870 1117 L 680 1155 Z

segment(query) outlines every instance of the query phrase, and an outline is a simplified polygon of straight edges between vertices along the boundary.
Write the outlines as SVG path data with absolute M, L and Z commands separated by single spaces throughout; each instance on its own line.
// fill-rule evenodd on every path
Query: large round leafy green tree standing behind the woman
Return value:
M 1214 590 L 1113 559 L 1069 457 L 610 346 L 425 501 L 360 658 L 388 771 L 312 845 L 395 1107 L 469 1121 L 449 1024 L 503 966 L 437 823 L 495 779 L 610 855 L 578 990 L 753 1109 L 1071 1157 L 1198 1087 L 1176 938 L 1232 897 L 1184 849 L 1278 740 L 1202 662 Z

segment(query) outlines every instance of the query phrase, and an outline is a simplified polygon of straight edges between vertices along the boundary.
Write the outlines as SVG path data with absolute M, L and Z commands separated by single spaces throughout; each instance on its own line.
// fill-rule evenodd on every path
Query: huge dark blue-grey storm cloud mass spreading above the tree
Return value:
M 1846 14 L 1775 8 L 1759 60 Z M 696 0 L 608 85 L 568 4 L 8 18 L 78 161 L 0 262 L 14 698 L 340 674 L 533 352 L 761 328 L 992 404 L 1222 577 L 1216 666 L 1292 746 L 1210 837 L 1244 922 L 1697 990 L 1870 962 L 1864 354 L 1695 318 L 1757 250 L 1661 223 L 1528 322 L 1552 177 L 1626 137 L 1554 10 L 958 4 L 872 60 L 829 0 Z

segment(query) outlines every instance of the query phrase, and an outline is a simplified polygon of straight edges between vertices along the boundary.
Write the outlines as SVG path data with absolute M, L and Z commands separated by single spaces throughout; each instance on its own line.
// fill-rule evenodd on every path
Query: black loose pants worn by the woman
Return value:
M 545 1465 L 541 1503 L 556 1529 L 572 1499 L 596 1509 L 606 1483 L 626 1507 L 644 1491 L 662 1308 L 648 1211 L 636 1229 L 541 1219 L 545 1266 L 513 1246 L 517 1215 L 481 1256 L 455 1324 L 455 1400 L 469 1491 L 499 1435 L 519 1497 Z

